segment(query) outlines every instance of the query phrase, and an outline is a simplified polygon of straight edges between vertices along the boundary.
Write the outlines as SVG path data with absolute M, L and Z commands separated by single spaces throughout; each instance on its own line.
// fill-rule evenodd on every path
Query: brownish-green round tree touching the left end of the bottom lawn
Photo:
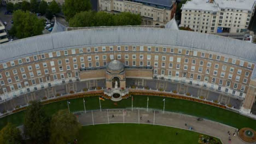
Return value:
M 50 143 L 66 144 L 78 136 L 81 125 L 77 117 L 67 110 L 60 110 L 53 115 L 50 123 Z

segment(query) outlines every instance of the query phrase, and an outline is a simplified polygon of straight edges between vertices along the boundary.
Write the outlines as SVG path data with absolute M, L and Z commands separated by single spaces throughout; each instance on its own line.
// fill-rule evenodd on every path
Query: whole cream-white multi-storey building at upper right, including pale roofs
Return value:
M 255 10 L 255 0 L 193 0 L 182 6 L 182 27 L 201 33 L 243 33 Z

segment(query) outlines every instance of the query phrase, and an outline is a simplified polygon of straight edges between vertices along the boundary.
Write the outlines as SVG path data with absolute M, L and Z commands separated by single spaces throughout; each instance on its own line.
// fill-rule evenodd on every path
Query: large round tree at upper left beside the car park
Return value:
M 44 20 L 38 19 L 30 11 L 14 11 L 13 22 L 13 27 L 11 27 L 9 33 L 19 39 L 42 34 L 44 29 Z

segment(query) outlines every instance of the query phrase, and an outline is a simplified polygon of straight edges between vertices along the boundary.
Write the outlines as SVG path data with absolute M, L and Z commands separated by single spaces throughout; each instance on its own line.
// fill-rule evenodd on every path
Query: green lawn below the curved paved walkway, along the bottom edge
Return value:
M 178 133 L 178 135 L 176 135 Z M 82 127 L 78 143 L 198 143 L 199 133 L 149 124 L 100 124 Z

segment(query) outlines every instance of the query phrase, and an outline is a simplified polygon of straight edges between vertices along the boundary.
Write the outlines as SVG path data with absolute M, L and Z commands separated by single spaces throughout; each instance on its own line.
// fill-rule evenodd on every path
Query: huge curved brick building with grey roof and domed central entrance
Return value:
M 250 113 L 255 53 L 255 44 L 168 28 L 90 28 L 21 39 L 0 45 L 0 110 L 83 88 L 136 86 Z

